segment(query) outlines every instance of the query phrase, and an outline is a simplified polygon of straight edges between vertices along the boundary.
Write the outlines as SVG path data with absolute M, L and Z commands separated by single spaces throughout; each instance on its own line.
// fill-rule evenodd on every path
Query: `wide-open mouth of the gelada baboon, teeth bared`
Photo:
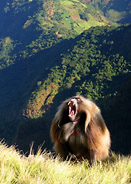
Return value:
M 77 114 L 77 100 L 76 99 L 71 99 L 68 102 L 68 106 L 69 106 L 69 118 L 71 118 L 71 120 L 75 120 L 76 114 Z

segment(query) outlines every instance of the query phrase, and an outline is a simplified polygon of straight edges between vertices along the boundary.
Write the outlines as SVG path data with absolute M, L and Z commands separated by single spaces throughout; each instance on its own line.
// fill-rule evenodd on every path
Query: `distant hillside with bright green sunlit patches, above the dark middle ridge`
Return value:
M 0 3 L 0 69 L 94 26 L 130 23 L 129 1 L 5 0 Z

